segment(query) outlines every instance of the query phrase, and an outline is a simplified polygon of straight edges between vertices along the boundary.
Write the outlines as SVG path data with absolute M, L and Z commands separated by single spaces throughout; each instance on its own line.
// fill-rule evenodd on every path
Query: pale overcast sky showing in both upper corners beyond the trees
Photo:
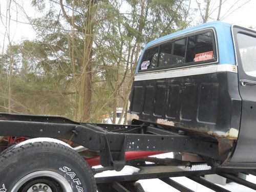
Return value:
M 203 0 L 198 0 L 198 2 L 202 2 Z M 1 14 L 2 18 L 5 19 L 6 12 L 6 2 L 7 0 L 0 0 L 1 6 Z M 30 6 L 30 0 L 19 0 L 19 2 L 23 2 L 23 7 L 27 10 L 27 14 L 31 17 L 37 17 L 39 15 L 38 12 L 34 10 Z M 219 0 L 211 0 L 212 9 L 210 12 L 218 8 Z M 236 23 L 238 25 L 244 27 L 252 27 L 256 29 L 256 0 L 223 0 L 222 10 L 221 10 L 221 20 L 226 23 Z M 236 3 L 236 4 L 234 4 Z M 234 4 L 234 5 L 233 5 Z M 244 4 L 244 5 L 243 5 Z M 233 5 L 230 9 L 230 5 Z M 241 8 L 239 8 L 242 6 Z M 193 0 L 191 3 L 191 8 L 197 8 L 196 0 Z M 239 9 L 238 9 L 239 8 Z M 210 17 L 214 19 L 217 18 L 218 9 L 216 9 Z M 195 20 L 199 20 L 199 15 L 195 16 Z M 18 42 L 24 39 L 34 39 L 36 38 L 36 33 L 31 27 L 31 25 L 23 24 L 20 22 L 27 23 L 27 19 L 20 12 L 17 13 L 16 7 L 12 8 L 11 18 L 14 20 L 18 20 L 18 22 L 11 21 L 11 38 L 14 43 L 18 44 Z M 211 20 L 211 19 L 210 19 Z M 195 25 L 195 24 L 194 24 Z M 2 22 L 0 22 L 0 48 L 3 47 L 3 39 L 4 39 L 5 27 Z M 7 43 L 6 43 L 7 44 Z M 6 46 L 6 45 L 5 45 Z

